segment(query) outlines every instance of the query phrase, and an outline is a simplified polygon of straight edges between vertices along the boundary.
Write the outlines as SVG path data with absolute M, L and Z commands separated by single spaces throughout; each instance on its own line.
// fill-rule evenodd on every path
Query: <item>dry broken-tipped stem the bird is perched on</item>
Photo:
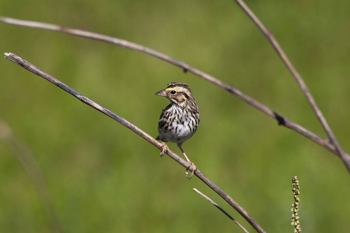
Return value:
M 43 72 L 39 68 L 35 67 L 34 65 L 30 64 L 28 61 L 18 57 L 17 55 L 13 53 L 5 53 L 5 56 L 8 60 L 13 61 L 15 64 L 20 65 L 21 67 L 29 70 L 30 72 L 48 80 L 49 82 L 55 84 L 59 88 L 65 90 L 69 94 L 73 95 L 83 103 L 86 103 L 87 105 L 91 106 L 92 108 L 102 112 L 103 114 L 113 118 L 114 120 L 118 121 L 120 124 L 124 125 L 128 129 L 132 130 L 133 132 L 137 133 L 139 136 L 147 140 L 149 143 L 153 144 L 155 147 L 159 148 L 161 150 L 162 144 L 151 137 L 146 132 L 142 131 L 140 128 L 138 128 L 136 125 L 128 122 L 124 118 L 118 116 L 117 114 L 111 112 L 110 110 L 102 107 L 101 105 L 93 102 L 92 100 L 88 99 L 87 97 L 79 94 L 69 86 L 65 85 L 64 83 L 60 82 L 59 80 L 55 79 L 51 75 Z M 166 152 L 170 156 L 170 158 L 174 159 L 178 163 L 180 163 L 183 167 L 189 168 L 190 171 L 192 171 L 192 168 L 189 166 L 189 163 L 185 160 L 183 160 L 179 155 L 175 154 L 174 152 L 168 150 Z M 241 216 L 243 216 L 248 223 L 254 227 L 254 229 L 259 233 L 265 233 L 264 229 L 259 226 L 259 224 L 241 207 L 239 206 L 230 196 L 228 196 L 222 189 L 220 189 L 214 182 L 208 179 L 203 173 L 201 173 L 198 169 L 195 171 L 195 175 L 201 179 L 205 184 L 207 184 L 211 189 L 213 189 L 219 196 L 221 196 L 226 202 L 228 202 Z

